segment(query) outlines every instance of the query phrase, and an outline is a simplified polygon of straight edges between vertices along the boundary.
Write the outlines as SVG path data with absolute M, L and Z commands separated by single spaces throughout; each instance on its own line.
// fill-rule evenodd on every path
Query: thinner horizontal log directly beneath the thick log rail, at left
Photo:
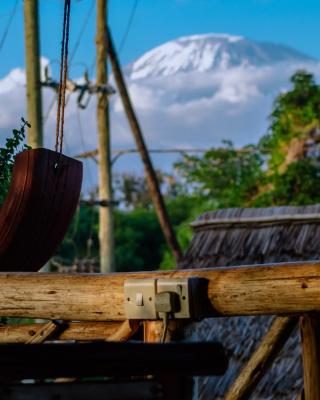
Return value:
M 26 343 L 42 331 L 46 324 L 18 324 L 0 326 L 0 344 Z M 126 341 L 138 329 L 136 321 L 121 322 L 70 322 L 65 330 L 58 330 L 57 340 L 107 340 Z

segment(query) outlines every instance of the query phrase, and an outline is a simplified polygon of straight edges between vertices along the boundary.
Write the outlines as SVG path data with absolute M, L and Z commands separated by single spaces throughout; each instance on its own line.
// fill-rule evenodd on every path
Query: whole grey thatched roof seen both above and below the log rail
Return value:
M 194 237 L 179 268 L 207 268 L 269 262 L 320 259 L 320 205 L 223 209 L 200 216 Z M 275 299 L 276 300 L 276 299 Z M 192 326 L 197 340 L 219 340 L 231 353 L 223 377 L 199 378 L 199 399 L 223 399 L 273 317 L 207 319 Z M 254 399 L 294 399 L 302 389 L 302 364 L 296 331 L 270 371 L 260 382 Z

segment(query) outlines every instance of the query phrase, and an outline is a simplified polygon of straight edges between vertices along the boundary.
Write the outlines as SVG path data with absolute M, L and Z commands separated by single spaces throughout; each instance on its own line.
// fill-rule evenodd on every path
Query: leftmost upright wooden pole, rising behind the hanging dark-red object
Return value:
M 39 54 L 38 0 L 24 1 L 24 28 L 27 78 L 28 144 L 42 147 L 42 98 Z

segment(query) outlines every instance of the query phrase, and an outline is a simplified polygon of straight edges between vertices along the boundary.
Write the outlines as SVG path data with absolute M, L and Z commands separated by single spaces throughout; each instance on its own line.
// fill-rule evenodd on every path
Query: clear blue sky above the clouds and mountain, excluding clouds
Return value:
M 16 0 L 0 2 L 0 37 Z M 109 0 L 110 25 L 119 47 L 136 0 Z M 7 39 L 0 50 L 0 77 L 24 65 L 23 1 L 19 0 Z M 70 75 L 82 74 L 94 60 L 95 1 L 73 0 L 72 49 L 88 13 L 87 28 L 74 57 Z M 40 0 L 41 54 L 59 57 L 62 0 Z M 320 59 L 318 0 L 138 0 L 120 58 L 127 64 L 145 51 L 179 36 L 222 32 L 259 41 L 286 44 Z

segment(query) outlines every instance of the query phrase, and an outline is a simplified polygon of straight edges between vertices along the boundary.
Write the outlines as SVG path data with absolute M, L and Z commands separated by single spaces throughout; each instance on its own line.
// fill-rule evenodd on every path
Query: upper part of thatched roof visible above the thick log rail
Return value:
M 320 258 L 320 205 L 227 208 L 201 215 L 192 227 L 180 268 Z

